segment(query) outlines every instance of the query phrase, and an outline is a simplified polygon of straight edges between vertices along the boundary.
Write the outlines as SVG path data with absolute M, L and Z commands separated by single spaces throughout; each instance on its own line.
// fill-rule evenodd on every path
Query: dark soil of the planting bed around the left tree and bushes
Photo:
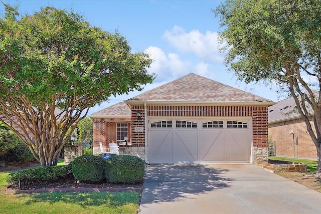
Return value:
M 23 164 L 6 164 L 4 167 L 0 167 L 0 172 L 12 172 L 19 171 L 31 167 L 38 167 L 38 162 L 28 162 Z M 136 184 L 123 184 L 123 183 L 84 183 L 79 182 L 75 179 L 73 174 L 69 174 L 57 181 L 50 183 L 20 183 L 20 189 L 31 190 L 31 189 L 50 189 L 50 188 L 137 188 L 142 189 L 143 182 Z M 14 183 L 8 186 L 10 189 L 19 189 L 19 183 Z

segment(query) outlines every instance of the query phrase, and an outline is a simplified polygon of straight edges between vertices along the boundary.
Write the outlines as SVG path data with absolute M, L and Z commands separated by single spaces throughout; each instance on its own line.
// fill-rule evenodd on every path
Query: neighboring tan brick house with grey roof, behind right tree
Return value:
M 268 107 L 268 135 L 275 143 L 276 156 L 316 159 L 316 147 L 307 132 L 306 125 L 296 109 L 293 97 Z M 313 112 L 309 121 L 313 126 Z

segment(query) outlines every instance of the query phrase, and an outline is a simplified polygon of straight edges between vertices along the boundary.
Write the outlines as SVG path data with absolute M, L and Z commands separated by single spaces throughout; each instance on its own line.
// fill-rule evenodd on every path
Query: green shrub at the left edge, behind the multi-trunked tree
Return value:
M 0 156 L 21 144 L 19 137 L 0 121 Z

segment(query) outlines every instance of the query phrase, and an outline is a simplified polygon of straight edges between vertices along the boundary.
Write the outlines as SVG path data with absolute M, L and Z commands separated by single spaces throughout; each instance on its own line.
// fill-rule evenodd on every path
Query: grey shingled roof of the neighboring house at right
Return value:
M 306 106 L 309 106 L 306 103 Z M 312 109 L 308 109 L 309 114 L 313 115 Z M 281 100 L 275 105 L 268 107 L 268 123 L 278 123 L 293 119 L 301 118 L 301 115 L 296 109 L 296 104 L 293 97 Z

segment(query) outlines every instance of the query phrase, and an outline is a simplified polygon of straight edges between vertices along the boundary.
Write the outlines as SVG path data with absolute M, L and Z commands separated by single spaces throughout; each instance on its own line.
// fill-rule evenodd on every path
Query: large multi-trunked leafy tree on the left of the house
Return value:
M 117 32 L 51 7 L 21 18 L 17 7 L 5 9 L 0 19 L 0 120 L 42 166 L 57 164 L 90 107 L 141 90 L 154 78 L 147 73 L 148 55 L 131 53 Z

